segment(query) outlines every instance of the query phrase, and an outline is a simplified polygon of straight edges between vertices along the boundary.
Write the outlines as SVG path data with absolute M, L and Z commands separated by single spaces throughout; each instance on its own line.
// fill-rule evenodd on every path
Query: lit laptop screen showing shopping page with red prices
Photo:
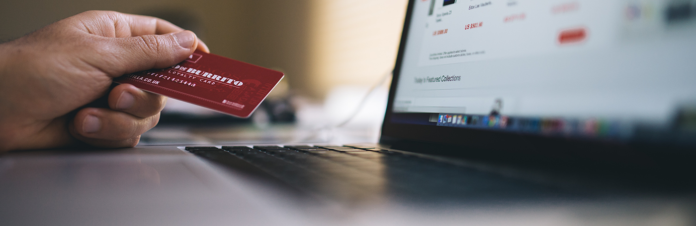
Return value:
M 410 7 L 386 123 L 696 142 L 696 1 Z

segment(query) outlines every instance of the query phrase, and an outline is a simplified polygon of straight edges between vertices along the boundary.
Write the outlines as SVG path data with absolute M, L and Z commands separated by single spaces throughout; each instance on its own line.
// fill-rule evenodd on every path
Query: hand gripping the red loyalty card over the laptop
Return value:
M 111 11 L 83 12 L 0 44 L 0 152 L 135 146 L 157 125 L 166 97 L 128 84 L 110 89 L 112 79 L 170 67 L 196 49 L 209 52 L 191 31 Z M 102 96 L 108 106 L 85 107 Z

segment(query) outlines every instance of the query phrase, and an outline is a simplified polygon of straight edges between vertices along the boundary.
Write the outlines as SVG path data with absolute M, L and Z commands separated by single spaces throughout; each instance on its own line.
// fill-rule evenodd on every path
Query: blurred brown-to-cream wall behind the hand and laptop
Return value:
M 4 0 L 0 40 L 86 10 L 163 17 L 212 53 L 283 71 L 294 94 L 322 101 L 393 69 L 406 0 Z

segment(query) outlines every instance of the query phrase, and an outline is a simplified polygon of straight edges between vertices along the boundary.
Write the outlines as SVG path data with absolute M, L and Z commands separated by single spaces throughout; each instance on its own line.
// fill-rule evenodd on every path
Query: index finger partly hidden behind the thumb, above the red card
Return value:
M 167 33 L 184 31 L 184 28 L 180 28 L 179 26 L 176 26 L 169 21 L 159 19 L 157 17 L 133 15 L 126 13 L 122 13 L 121 15 L 122 17 L 125 17 L 123 18 L 123 20 L 127 22 L 127 25 L 129 26 L 130 30 L 130 33 L 128 35 L 125 35 L 125 37 L 141 35 L 164 35 Z M 120 34 L 118 34 L 118 28 L 116 30 L 116 37 L 122 37 L 120 36 Z M 203 41 L 201 41 L 200 39 L 198 39 L 198 46 L 196 47 L 196 49 L 204 51 L 205 53 L 210 53 L 208 46 L 205 43 L 203 43 Z

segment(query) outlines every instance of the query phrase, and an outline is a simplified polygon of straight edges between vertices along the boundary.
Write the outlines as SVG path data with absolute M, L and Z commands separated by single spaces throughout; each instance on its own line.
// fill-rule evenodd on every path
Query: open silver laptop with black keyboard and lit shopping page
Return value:
M 8 153 L 0 222 L 690 225 L 694 60 L 696 1 L 412 0 L 379 144 Z

